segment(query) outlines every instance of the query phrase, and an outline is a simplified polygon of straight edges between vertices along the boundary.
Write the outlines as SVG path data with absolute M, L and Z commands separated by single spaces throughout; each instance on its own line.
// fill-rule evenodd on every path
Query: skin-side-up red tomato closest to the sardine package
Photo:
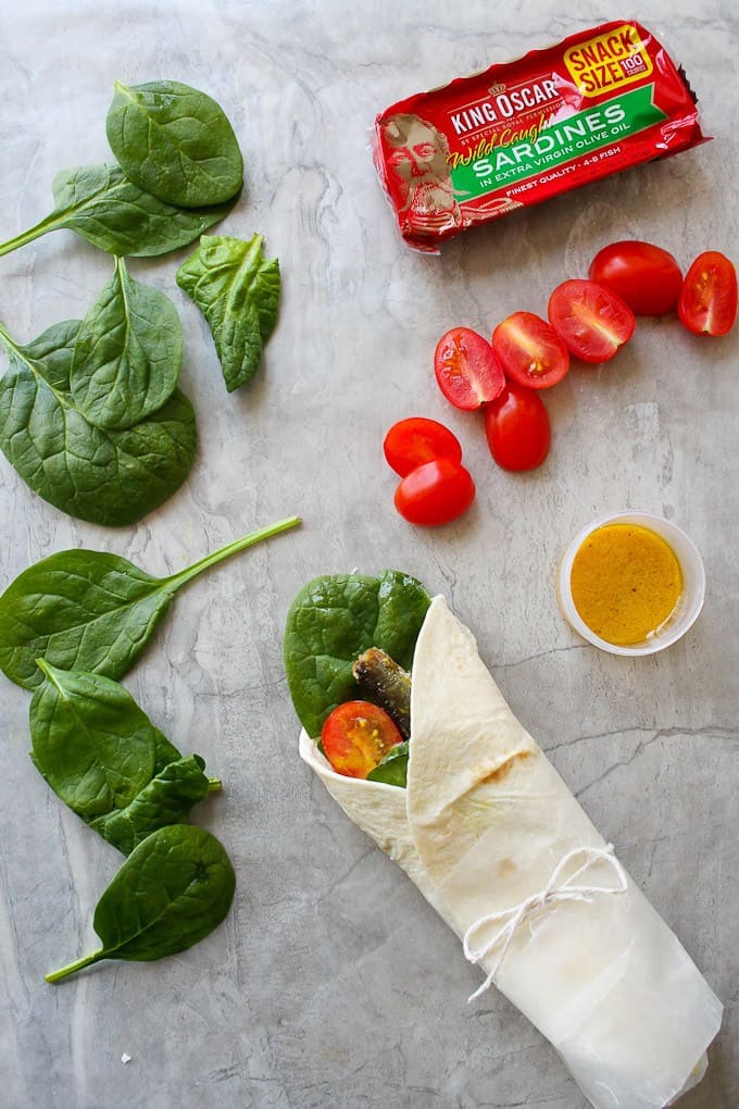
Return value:
M 674 312 L 682 288 L 677 258 L 638 240 L 604 246 L 593 258 L 588 277 L 616 293 L 637 316 Z

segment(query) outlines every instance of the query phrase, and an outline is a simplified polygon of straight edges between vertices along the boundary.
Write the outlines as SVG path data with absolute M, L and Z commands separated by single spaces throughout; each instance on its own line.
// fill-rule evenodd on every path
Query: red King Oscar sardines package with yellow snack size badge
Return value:
M 400 233 L 432 252 L 466 227 L 706 141 L 682 71 L 623 20 L 417 93 L 374 126 Z

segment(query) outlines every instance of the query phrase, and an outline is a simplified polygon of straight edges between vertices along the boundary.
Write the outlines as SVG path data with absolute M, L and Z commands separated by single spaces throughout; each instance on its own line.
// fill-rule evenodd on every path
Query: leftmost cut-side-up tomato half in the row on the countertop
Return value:
M 490 343 L 469 327 L 452 327 L 441 336 L 433 369 L 447 399 L 466 411 L 494 400 L 505 385 L 503 367 Z

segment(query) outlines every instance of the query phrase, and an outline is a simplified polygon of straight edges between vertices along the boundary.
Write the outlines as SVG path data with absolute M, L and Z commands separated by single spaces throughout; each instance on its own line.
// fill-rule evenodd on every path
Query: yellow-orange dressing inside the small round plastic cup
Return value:
M 591 532 L 575 554 L 569 581 L 581 619 L 619 647 L 654 635 L 682 592 L 675 551 L 637 523 L 607 523 Z

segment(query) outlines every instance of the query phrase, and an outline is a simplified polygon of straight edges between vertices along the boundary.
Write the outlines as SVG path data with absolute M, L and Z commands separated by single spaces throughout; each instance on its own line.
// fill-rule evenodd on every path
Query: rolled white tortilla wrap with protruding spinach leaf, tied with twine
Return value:
M 336 773 L 316 742 L 332 699 L 357 695 L 351 654 L 368 640 L 411 655 L 406 788 Z M 699 1081 L 718 998 L 445 600 L 424 604 L 401 574 L 317 579 L 290 610 L 285 657 L 307 724 L 301 757 L 462 939 L 483 988 L 494 983 L 547 1037 L 595 1109 L 661 1109 Z

